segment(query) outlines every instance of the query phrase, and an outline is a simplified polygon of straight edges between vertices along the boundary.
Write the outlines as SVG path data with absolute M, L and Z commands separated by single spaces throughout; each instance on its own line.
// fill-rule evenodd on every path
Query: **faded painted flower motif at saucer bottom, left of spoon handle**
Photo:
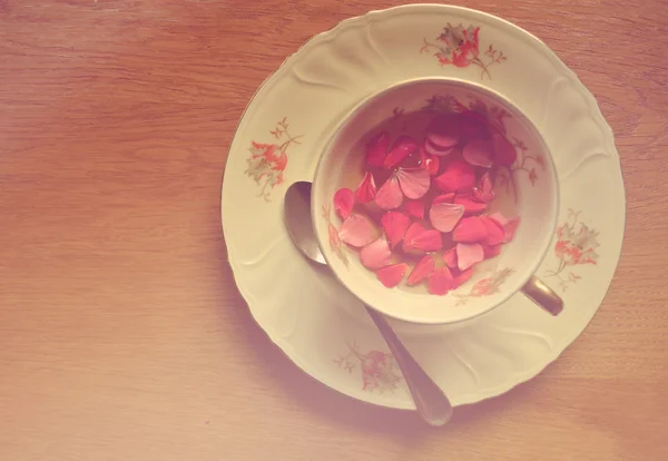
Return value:
M 353 373 L 358 363 L 364 391 L 394 391 L 403 380 L 392 354 L 382 351 L 370 351 L 363 354 L 355 343 L 348 344 L 348 353 L 335 359 L 334 363 L 348 373 Z

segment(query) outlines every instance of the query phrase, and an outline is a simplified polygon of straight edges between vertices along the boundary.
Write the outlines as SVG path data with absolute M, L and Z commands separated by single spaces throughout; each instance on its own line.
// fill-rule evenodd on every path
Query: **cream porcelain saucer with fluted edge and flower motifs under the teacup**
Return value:
M 392 322 L 454 405 L 530 380 L 576 340 L 612 281 L 625 227 L 612 131 L 576 75 L 529 32 L 465 8 L 411 4 L 345 20 L 306 42 L 258 89 L 229 149 L 222 193 L 229 263 L 255 321 L 298 367 L 395 409 L 414 404 L 382 336 L 330 271 L 293 245 L 283 199 L 291 184 L 313 179 L 318 153 L 356 104 L 434 76 L 485 85 L 536 120 L 560 184 L 558 228 L 537 275 L 562 296 L 561 315 L 515 295 L 455 325 Z M 515 174 L 539 178 L 540 159 L 520 158 Z M 490 272 L 466 296 L 493 293 L 505 275 Z

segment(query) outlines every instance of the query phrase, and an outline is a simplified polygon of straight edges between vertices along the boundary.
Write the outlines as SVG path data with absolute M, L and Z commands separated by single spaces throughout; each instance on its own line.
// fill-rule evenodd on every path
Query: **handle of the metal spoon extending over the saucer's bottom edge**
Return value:
M 394 355 L 394 360 L 409 385 L 418 413 L 431 425 L 445 424 L 452 416 L 452 404 L 441 388 L 429 377 L 422 366 L 413 359 L 385 317 L 367 305 L 364 305 L 364 307 L 366 307 L 366 312 L 381 331 L 390 351 L 392 351 L 392 355 Z

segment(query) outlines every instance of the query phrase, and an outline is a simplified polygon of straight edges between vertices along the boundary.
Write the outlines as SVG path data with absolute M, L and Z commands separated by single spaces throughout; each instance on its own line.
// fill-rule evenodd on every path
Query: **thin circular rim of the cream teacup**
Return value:
M 503 106 L 505 107 L 510 107 L 513 111 L 513 115 L 515 116 L 520 116 L 520 120 L 523 121 L 525 124 L 525 127 L 528 129 L 530 129 L 532 131 L 532 134 L 534 135 L 537 141 L 542 146 L 544 153 L 547 154 L 546 157 L 546 161 L 549 164 L 549 168 L 546 168 L 546 171 L 549 174 L 550 176 L 550 180 L 552 182 L 553 186 L 554 186 L 554 194 L 552 197 L 552 209 L 554 210 L 550 217 L 550 225 L 548 226 L 548 228 L 552 229 L 552 233 L 554 232 L 554 229 L 557 228 L 557 222 L 559 218 L 559 206 L 560 206 L 560 187 L 559 187 L 559 177 L 557 175 L 557 166 L 554 164 L 554 159 L 552 156 L 552 150 L 550 149 L 550 147 L 548 146 L 548 144 L 544 140 L 543 135 L 541 134 L 540 129 L 536 126 L 536 124 L 520 109 L 518 108 L 514 104 L 512 104 L 505 96 L 503 96 L 502 94 L 500 94 L 499 91 L 488 88 L 483 85 L 477 84 L 477 82 L 472 82 L 469 80 L 464 80 L 461 78 L 456 78 L 456 77 L 418 77 L 418 78 L 413 78 L 413 79 L 405 79 L 399 84 L 392 85 L 390 87 L 384 87 L 377 91 L 374 91 L 367 96 L 365 96 L 358 104 L 356 104 L 351 110 L 348 110 L 342 118 L 341 120 L 335 125 L 335 128 L 332 130 L 332 134 L 330 135 L 328 139 L 325 141 L 324 147 L 322 148 L 321 153 L 320 153 L 320 157 L 317 159 L 317 164 L 313 174 L 313 182 L 312 182 L 312 188 L 311 188 L 311 219 L 313 223 L 313 227 L 314 227 L 314 233 L 315 233 L 315 237 L 317 241 L 317 244 L 321 248 L 321 252 L 323 254 L 323 257 L 325 258 L 327 266 L 330 266 L 331 272 L 334 274 L 334 276 L 336 277 L 336 279 L 351 293 L 353 294 L 355 297 L 357 297 L 362 303 L 364 303 L 365 305 L 367 305 L 369 307 L 373 308 L 374 311 L 386 315 L 389 317 L 392 317 L 394 320 L 397 321 L 402 321 L 402 322 L 406 322 L 406 323 L 412 323 L 412 324 L 422 324 L 422 325 L 454 325 L 454 324 L 459 324 L 459 323 L 463 323 L 466 321 L 471 321 L 473 318 L 477 318 L 481 315 L 488 314 L 491 311 L 493 311 L 494 308 L 499 307 L 500 305 L 504 304 L 510 297 L 520 294 L 522 287 L 529 282 L 529 279 L 534 276 L 538 272 L 538 268 L 540 266 L 540 264 L 544 261 L 547 253 L 550 248 L 550 243 L 552 242 L 552 234 L 550 234 L 550 237 L 546 238 L 546 243 L 543 244 L 543 248 L 539 252 L 539 256 L 534 258 L 533 264 L 531 265 L 530 269 L 524 271 L 525 275 L 522 275 L 521 277 L 519 277 L 519 282 L 515 283 L 515 286 L 513 286 L 513 290 L 509 290 L 507 294 L 504 294 L 503 296 L 499 297 L 499 300 L 495 303 L 490 304 L 489 306 L 487 306 L 483 310 L 480 310 L 479 312 L 474 312 L 469 316 L 462 316 L 459 318 L 453 318 L 452 321 L 442 321 L 439 318 L 435 318 L 433 321 L 431 320 L 424 320 L 424 318 L 415 318 L 415 317 L 411 317 L 410 315 L 397 315 L 389 310 L 383 310 L 383 308 L 379 308 L 376 307 L 373 303 L 367 302 L 367 300 L 364 300 L 362 296 L 357 295 L 357 293 L 352 290 L 347 283 L 345 283 L 342 277 L 340 276 L 338 272 L 334 269 L 334 267 L 331 264 L 330 261 L 330 255 L 327 255 L 327 252 L 325 251 L 326 248 L 326 242 L 323 241 L 323 238 L 321 237 L 320 233 L 316 230 L 316 225 L 315 222 L 317 219 L 317 206 L 316 206 L 316 200 L 315 200 L 315 196 L 316 196 L 316 179 L 318 177 L 318 174 L 321 173 L 322 166 L 324 165 L 325 159 L 327 158 L 328 154 L 332 153 L 332 147 L 334 146 L 334 143 L 336 141 L 336 139 L 338 138 L 338 136 L 341 135 L 341 133 L 343 131 L 343 129 L 347 126 L 347 124 L 354 118 L 354 116 L 360 112 L 362 109 L 364 109 L 365 107 L 367 107 L 369 105 L 371 105 L 373 101 L 375 101 L 376 99 L 379 99 L 380 97 L 382 97 L 383 95 L 385 95 L 386 92 L 390 92 L 392 90 L 396 90 L 399 88 L 402 87 L 406 87 L 406 86 L 411 86 L 414 84 L 455 84 L 455 85 L 460 85 L 462 87 L 468 87 L 474 90 L 479 90 L 483 94 L 489 94 L 492 95 L 493 98 L 500 100 L 502 102 Z M 538 306 L 537 306 L 538 308 Z

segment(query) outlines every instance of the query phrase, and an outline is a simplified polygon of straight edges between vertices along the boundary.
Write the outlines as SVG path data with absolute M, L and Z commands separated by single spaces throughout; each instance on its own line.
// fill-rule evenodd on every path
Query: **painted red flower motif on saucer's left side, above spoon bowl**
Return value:
M 287 148 L 293 143 L 299 144 L 301 136 L 293 137 L 287 129 L 287 119 L 284 118 L 276 125 L 276 129 L 269 131 L 274 138 L 283 141 L 282 144 L 250 141 L 250 156 L 247 158 L 248 167 L 245 173 L 262 186 L 257 196 L 267 202 L 271 190 L 283 184 L 283 173 L 287 167 Z

